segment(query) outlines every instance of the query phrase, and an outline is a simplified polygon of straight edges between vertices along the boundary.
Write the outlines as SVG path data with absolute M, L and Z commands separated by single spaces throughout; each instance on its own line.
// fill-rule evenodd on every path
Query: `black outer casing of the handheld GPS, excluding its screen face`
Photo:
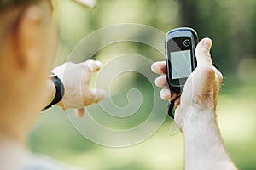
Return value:
M 171 77 L 171 67 L 172 67 L 172 63 L 170 61 L 170 50 L 168 50 L 170 47 L 168 47 L 168 42 L 170 42 L 171 40 L 178 38 L 178 37 L 188 37 L 189 39 L 191 39 L 191 68 L 192 71 L 195 70 L 196 68 L 196 59 L 195 59 L 195 47 L 196 44 L 198 42 L 198 36 L 196 34 L 196 31 L 193 30 L 192 28 L 189 27 L 182 27 L 182 28 L 177 28 L 177 29 L 173 29 L 171 31 L 168 31 L 166 34 L 166 39 L 165 39 L 165 49 L 166 49 L 166 74 L 167 74 L 167 82 L 169 85 L 169 88 L 172 91 L 175 92 L 181 92 L 183 89 L 183 86 L 187 80 L 187 78 L 181 78 L 181 79 L 175 79 L 172 80 Z M 182 50 L 182 48 L 178 47 L 180 50 Z M 179 51 L 180 51 L 179 50 Z

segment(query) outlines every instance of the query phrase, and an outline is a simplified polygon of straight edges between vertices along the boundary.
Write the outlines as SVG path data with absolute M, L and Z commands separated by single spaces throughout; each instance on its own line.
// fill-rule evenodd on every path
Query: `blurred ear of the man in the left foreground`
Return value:
M 20 69 L 37 66 L 42 59 L 42 35 L 44 35 L 44 13 L 39 6 L 30 6 L 20 15 L 15 30 L 15 51 Z

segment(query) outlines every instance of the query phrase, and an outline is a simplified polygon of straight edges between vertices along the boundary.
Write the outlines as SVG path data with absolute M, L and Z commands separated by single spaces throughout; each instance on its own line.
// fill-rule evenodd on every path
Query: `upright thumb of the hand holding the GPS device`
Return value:
M 198 67 L 201 66 L 211 66 L 212 59 L 210 50 L 212 47 L 212 40 L 210 38 L 202 39 L 195 48 L 195 57 L 197 60 Z

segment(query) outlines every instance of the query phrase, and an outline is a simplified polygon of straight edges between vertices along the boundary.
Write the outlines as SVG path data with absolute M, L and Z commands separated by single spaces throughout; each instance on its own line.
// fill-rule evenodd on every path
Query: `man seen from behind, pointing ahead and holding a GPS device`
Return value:
M 1 0 L 0 5 L 0 169 L 67 169 L 49 158 L 33 156 L 25 149 L 26 136 L 37 113 L 55 95 L 54 84 L 48 79 L 56 42 L 51 4 L 48 0 Z M 185 168 L 236 169 L 224 150 L 215 122 L 222 77 L 212 67 L 210 47 L 209 39 L 199 43 L 198 67 L 189 77 L 180 103 L 177 101 L 175 105 L 175 121 L 185 139 Z M 152 70 L 165 74 L 165 67 L 165 62 L 160 62 Z M 88 88 L 91 73 L 99 68 L 99 62 L 87 61 L 78 65 L 67 63 L 55 69 L 66 90 L 58 105 L 63 109 L 83 108 L 100 99 L 101 91 Z M 65 79 L 61 76 L 64 70 L 68 73 Z M 82 80 L 78 81 L 78 77 Z M 84 84 L 81 95 L 77 94 L 80 83 Z M 166 87 L 166 77 L 160 76 L 156 85 Z M 167 88 L 161 92 L 163 99 L 173 99 L 176 95 L 170 94 Z M 73 102 L 70 96 L 79 99 Z

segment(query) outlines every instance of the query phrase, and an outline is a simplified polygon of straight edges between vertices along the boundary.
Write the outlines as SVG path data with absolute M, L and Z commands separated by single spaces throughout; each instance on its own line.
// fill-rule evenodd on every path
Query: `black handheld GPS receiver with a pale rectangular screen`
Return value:
M 166 73 L 169 88 L 181 92 L 183 86 L 196 67 L 196 32 L 191 28 L 177 28 L 166 34 Z

